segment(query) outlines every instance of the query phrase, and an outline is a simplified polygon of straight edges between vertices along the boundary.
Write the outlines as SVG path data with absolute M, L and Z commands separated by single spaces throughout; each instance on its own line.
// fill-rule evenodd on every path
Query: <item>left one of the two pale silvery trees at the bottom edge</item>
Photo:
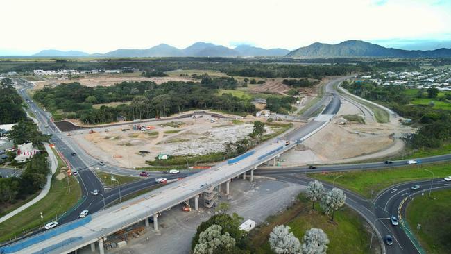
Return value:
M 269 234 L 269 246 L 277 254 L 300 253 L 299 239 L 293 235 L 289 226 L 275 226 Z

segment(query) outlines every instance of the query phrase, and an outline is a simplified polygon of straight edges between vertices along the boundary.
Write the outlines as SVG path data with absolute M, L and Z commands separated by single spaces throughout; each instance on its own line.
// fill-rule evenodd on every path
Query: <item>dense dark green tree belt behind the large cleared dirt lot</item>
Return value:
M 255 105 L 232 94 L 216 94 L 216 89 L 236 87 L 234 78 L 210 78 L 201 83 L 169 81 L 156 85 L 151 81 L 122 82 L 110 87 L 86 87 L 80 83 L 46 86 L 34 99 L 51 111 L 71 112 L 67 117 L 79 118 L 85 124 L 167 117 L 189 109 L 214 109 L 233 113 L 253 113 Z M 96 103 L 124 102 L 113 108 L 92 107 Z M 129 102 L 126 104 L 125 102 Z

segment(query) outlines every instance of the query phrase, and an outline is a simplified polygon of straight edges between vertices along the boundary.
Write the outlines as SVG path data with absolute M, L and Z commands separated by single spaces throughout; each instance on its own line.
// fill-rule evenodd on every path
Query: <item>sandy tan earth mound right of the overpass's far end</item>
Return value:
M 366 124 L 338 124 L 343 115 L 364 116 L 356 105 L 344 100 L 341 102 L 332 123 L 305 140 L 298 149 L 281 155 L 282 166 L 367 160 L 393 155 L 404 149 L 403 142 L 395 137 L 411 133 L 413 130 L 409 126 L 400 124 L 399 119 L 380 124 L 371 116 L 366 116 Z

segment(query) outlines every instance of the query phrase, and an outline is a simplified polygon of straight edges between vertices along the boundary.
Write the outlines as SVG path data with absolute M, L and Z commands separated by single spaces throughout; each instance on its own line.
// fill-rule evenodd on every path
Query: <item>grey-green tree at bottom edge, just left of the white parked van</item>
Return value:
M 217 248 L 228 249 L 235 246 L 235 239 L 228 232 L 224 234 L 222 227 L 212 225 L 199 235 L 198 244 L 194 247 L 194 254 L 212 254 Z

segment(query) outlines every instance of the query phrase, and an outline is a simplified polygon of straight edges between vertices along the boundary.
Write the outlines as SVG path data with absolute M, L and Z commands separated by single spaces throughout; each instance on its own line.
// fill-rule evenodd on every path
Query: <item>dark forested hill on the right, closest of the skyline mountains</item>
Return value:
M 385 48 L 360 40 L 348 40 L 339 44 L 316 42 L 309 46 L 291 51 L 287 58 L 443 58 L 451 57 L 451 49 L 435 49 L 432 51 L 409 51 Z

